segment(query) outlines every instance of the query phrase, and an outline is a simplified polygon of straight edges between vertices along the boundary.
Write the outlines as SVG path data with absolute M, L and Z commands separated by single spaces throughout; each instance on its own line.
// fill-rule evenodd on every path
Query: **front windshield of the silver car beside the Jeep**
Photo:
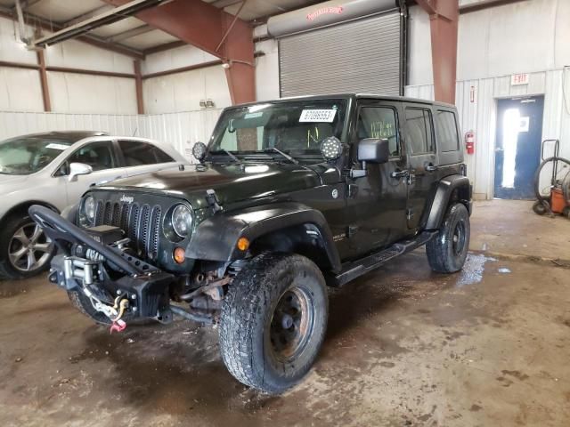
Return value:
M 53 162 L 73 144 L 45 136 L 20 136 L 0 142 L 0 173 L 29 175 Z

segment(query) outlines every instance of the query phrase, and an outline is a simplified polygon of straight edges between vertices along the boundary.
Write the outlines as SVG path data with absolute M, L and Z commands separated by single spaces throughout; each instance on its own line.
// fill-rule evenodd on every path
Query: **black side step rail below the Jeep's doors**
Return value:
M 429 240 L 435 238 L 436 234 L 437 231 L 424 231 L 415 238 L 397 242 L 392 246 L 388 246 L 360 260 L 346 262 L 342 266 L 342 271 L 340 271 L 337 276 L 330 278 L 329 285 L 335 287 L 346 285 L 346 283 L 354 280 L 354 278 L 358 278 L 363 274 L 378 269 L 382 264 L 392 260 L 396 256 L 406 254 L 419 246 L 425 245 Z

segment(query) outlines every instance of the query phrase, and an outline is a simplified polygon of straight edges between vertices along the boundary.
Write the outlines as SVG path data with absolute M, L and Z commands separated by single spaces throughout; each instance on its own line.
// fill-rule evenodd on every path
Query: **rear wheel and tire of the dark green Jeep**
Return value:
M 440 273 L 454 273 L 463 268 L 469 248 L 471 227 L 465 205 L 450 206 L 436 238 L 426 245 L 429 266 Z

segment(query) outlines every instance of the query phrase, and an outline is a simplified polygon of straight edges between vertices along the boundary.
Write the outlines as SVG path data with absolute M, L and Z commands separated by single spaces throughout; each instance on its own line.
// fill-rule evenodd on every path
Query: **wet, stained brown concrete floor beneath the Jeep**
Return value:
M 416 251 L 332 291 L 322 355 L 281 397 L 237 383 L 212 328 L 110 335 L 45 278 L 0 283 L 0 425 L 567 426 L 570 221 L 529 210 L 476 205 L 461 273 Z

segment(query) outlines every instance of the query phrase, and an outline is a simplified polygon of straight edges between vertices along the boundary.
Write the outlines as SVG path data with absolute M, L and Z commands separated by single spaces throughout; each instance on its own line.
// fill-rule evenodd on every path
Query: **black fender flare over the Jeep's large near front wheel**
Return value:
M 219 212 L 201 222 L 191 236 L 186 257 L 195 260 L 232 262 L 247 252 L 237 247 L 238 239 L 255 242 L 267 233 L 295 225 L 311 224 L 319 234 L 331 270 L 341 270 L 340 257 L 329 224 L 322 213 L 299 203 L 256 206 L 244 210 Z

